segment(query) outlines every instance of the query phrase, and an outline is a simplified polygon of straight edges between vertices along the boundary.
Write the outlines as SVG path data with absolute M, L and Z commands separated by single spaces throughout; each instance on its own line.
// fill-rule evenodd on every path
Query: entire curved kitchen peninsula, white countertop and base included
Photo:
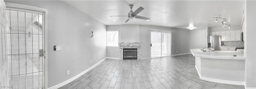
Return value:
M 200 79 L 244 85 L 245 57 L 242 51 L 203 52 L 200 48 L 194 48 L 190 52 L 195 56 Z

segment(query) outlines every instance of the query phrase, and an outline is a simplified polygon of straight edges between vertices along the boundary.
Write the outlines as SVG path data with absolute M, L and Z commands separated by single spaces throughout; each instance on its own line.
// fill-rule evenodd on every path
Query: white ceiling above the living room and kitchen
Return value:
M 63 0 L 82 12 L 90 15 L 105 25 L 140 24 L 160 25 L 166 27 L 186 28 L 192 23 L 196 29 L 205 27 L 221 27 L 220 19 L 212 17 L 221 16 L 227 18 L 231 28 L 234 25 L 241 25 L 244 9 L 244 0 L 228 1 L 184 1 L 184 0 Z M 145 8 L 138 15 L 150 18 L 150 21 L 143 19 L 131 19 L 124 23 L 127 17 L 110 17 L 111 15 L 128 15 L 129 4 L 134 4 L 133 11 L 140 6 Z M 116 19 L 116 21 L 113 21 Z M 227 27 L 227 26 L 226 26 Z

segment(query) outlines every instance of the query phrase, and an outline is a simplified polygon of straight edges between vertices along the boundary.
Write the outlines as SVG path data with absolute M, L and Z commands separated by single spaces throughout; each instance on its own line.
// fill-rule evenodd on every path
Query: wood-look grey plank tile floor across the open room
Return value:
M 106 59 L 60 89 L 244 89 L 201 80 L 192 54 L 148 60 Z

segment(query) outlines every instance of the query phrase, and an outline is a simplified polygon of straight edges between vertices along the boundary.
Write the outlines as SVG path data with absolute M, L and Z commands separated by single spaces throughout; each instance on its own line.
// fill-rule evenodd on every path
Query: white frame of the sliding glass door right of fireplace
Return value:
M 161 42 L 162 42 L 162 33 L 170 33 L 171 34 L 171 43 L 170 43 L 170 56 L 172 56 L 172 31 L 170 30 L 161 30 L 161 29 L 150 29 L 150 44 L 151 44 L 151 32 L 159 32 L 161 33 Z M 150 46 L 150 57 L 152 58 L 151 55 L 151 47 Z M 161 51 L 162 51 L 162 43 L 161 43 Z M 162 52 L 161 52 L 161 57 L 166 57 L 166 56 L 162 56 Z M 155 58 L 161 58 L 161 57 L 155 57 Z

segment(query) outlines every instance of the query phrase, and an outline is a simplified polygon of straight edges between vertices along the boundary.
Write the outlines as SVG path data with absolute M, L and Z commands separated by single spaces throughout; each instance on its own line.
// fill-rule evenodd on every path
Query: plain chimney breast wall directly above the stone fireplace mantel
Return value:
M 120 25 L 119 43 L 140 42 L 140 25 Z

